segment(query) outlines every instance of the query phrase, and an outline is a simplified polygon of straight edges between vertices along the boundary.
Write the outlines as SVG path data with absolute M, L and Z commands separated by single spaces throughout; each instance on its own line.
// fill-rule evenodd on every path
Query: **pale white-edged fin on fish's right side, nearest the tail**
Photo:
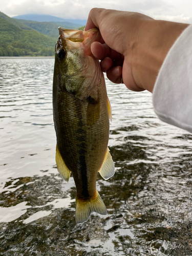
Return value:
M 101 165 L 101 168 L 99 169 L 100 175 L 103 177 L 103 179 L 108 180 L 115 174 L 115 165 L 112 160 L 112 156 L 109 152 L 109 148 L 106 150 L 103 163 Z

